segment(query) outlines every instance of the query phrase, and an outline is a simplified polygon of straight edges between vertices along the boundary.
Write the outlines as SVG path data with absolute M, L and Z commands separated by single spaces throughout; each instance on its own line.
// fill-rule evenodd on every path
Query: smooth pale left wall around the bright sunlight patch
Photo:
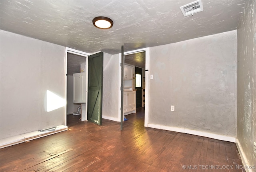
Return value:
M 64 107 L 47 112 L 46 91 L 65 97 L 65 47 L 0 31 L 1 139 L 65 125 Z

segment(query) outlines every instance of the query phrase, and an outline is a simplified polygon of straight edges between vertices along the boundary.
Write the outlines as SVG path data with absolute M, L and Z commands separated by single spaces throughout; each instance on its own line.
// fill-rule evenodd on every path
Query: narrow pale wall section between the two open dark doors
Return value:
M 103 54 L 102 118 L 118 121 L 119 55 Z

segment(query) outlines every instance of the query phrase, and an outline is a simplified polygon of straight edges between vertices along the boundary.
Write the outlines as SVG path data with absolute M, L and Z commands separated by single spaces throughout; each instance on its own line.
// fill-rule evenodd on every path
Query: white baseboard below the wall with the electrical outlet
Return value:
M 206 133 L 203 131 L 197 131 L 197 130 L 191 130 L 191 129 L 185 129 L 185 128 L 178 128 L 178 127 L 169 127 L 169 126 L 164 126 L 164 125 L 156 125 L 156 124 L 148 124 L 148 127 L 151 128 L 156 128 L 156 129 L 163 129 L 163 130 L 168 130 L 168 131 L 176 131 L 179 133 L 186 133 L 186 134 L 192 134 L 192 135 L 198 135 L 198 136 L 203 136 L 203 137 L 209 137 L 212 139 L 218 139 L 222 141 L 229 141 L 229 142 L 236 142 L 235 137 L 229 137 L 229 136 L 224 136 L 224 135 L 217 135 L 213 133 Z

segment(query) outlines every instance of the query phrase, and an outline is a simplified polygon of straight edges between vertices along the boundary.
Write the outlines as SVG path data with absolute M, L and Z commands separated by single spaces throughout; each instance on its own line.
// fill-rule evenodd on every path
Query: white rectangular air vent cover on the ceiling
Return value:
M 180 10 L 182 11 L 182 13 L 185 17 L 189 16 L 189 15 L 193 15 L 193 14 L 201 12 L 201 11 L 204 11 L 203 4 L 202 4 L 201 0 L 197 0 L 197 1 L 191 2 L 189 4 L 186 4 L 184 6 L 181 6 Z

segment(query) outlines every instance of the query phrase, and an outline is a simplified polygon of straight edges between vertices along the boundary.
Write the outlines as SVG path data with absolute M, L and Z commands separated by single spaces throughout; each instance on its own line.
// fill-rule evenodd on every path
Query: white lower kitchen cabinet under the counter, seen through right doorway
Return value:
M 124 92 L 124 115 L 136 113 L 136 91 Z

